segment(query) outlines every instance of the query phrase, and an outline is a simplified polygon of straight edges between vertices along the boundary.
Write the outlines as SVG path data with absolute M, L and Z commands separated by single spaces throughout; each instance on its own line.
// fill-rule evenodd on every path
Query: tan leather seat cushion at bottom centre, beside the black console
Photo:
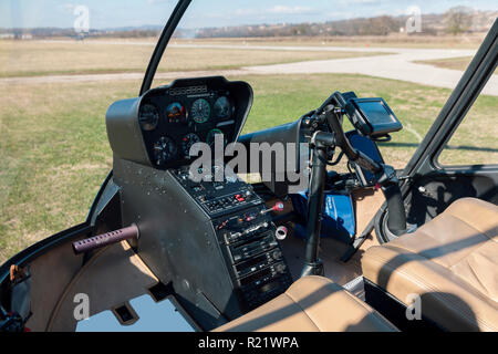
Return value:
M 381 314 L 323 277 L 304 277 L 283 294 L 218 327 L 235 332 L 397 331 Z

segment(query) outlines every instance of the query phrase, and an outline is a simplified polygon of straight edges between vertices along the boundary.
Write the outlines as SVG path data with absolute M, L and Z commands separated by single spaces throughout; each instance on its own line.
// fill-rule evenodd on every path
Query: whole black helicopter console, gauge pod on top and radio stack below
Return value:
M 272 208 L 252 186 L 226 168 L 222 180 L 190 178 L 189 147 L 210 145 L 218 134 L 225 144 L 236 142 L 251 104 L 248 83 L 214 76 L 176 80 L 117 101 L 106 114 L 122 223 L 137 226 L 141 258 L 164 284 L 173 284 L 206 330 L 292 282 Z

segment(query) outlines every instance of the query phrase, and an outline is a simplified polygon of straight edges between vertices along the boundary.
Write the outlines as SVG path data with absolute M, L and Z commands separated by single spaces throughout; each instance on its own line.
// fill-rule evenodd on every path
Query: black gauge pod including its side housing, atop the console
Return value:
M 179 79 L 114 102 L 106 129 L 115 156 L 156 169 L 189 165 L 189 148 L 237 140 L 252 105 L 252 88 L 224 76 Z

